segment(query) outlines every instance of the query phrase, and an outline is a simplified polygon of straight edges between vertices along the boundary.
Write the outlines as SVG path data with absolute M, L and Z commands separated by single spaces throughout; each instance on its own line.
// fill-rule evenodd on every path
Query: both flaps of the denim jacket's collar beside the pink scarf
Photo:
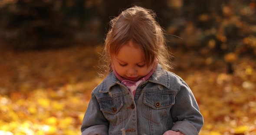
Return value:
M 164 70 L 160 64 L 157 65 L 156 71 L 149 77 L 149 82 L 161 84 L 164 87 L 170 88 L 170 77 L 168 72 Z M 120 84 L 118 79 L 115 77 L 115 74 L 111 72 L 107 77 L 102 81 L 102 86 L 100 88 L 100 93 L 108 93 L 110 87 Z

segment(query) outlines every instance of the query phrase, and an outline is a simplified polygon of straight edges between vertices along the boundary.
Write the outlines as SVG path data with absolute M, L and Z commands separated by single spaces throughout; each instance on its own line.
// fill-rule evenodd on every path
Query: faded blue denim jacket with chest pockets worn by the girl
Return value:
M 159 64 L 135 97 L 110 73 L 93 91 L 82 135 L 163 135 L 168 130 L 198 135 L 203 116 L 187 84 Z

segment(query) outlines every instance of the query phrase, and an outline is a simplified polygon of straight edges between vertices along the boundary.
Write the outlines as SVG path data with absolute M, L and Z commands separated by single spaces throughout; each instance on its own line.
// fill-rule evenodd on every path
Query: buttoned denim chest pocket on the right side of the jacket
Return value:
M 143 115 L 146 119 L 160 123 L 167 113 L 170 113 L 174 105 L 175 94 L 144 92 L 144 104 L 146 108 Z

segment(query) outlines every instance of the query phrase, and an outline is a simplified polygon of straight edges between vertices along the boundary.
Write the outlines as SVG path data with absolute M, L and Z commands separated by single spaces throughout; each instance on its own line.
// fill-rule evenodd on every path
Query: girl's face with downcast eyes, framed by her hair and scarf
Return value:
M 153 68 L 153 65 L 147 66 L 143 50 L 131 41 L 121 46 L 112 58 L 112 65 L 121 77 L 133 81 L 144 77 Z

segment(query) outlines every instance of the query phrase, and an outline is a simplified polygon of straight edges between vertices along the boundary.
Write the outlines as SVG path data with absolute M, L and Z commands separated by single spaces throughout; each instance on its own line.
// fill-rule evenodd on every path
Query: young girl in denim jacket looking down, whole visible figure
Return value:
M 139 6 L 112 19 L 105 39 L 109 74 L 92 91 L 82 135 L 198 135 L 194 95 L 166 69 L 168 51 L 155 13 Z

